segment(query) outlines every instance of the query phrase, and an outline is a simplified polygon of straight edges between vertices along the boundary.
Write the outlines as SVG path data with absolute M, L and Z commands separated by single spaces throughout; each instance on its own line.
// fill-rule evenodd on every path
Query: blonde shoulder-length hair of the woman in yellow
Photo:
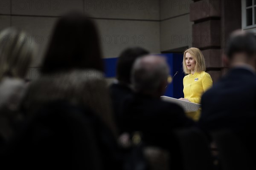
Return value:
M 205 61 L 204 61 L 204 55 L 202 54 L 202 52 L 200 51 L 200 49 L 192 47 L 190 49 L 186 49 L 186 51 L 184 52 L 183 55 L 183 72 L 185 74 L 190 74 L 191 70 L 187 69 L 186 66 L 186 53 L 189 53 L 194 59 L 195 59 L 195 71 L 196 72 L 201 72 L 201 71 L 205 71 L 206 67 L 205 67 Z

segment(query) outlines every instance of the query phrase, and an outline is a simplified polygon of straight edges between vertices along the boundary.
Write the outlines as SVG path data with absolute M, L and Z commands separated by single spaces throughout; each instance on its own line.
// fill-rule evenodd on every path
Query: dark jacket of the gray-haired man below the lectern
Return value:
M 145 95 L 125 98 L 122 115 L 122 132 L 140 131 L 145 144 L 163 148 L 169 147 L 172 130 L 195 124 L 178 105 Z

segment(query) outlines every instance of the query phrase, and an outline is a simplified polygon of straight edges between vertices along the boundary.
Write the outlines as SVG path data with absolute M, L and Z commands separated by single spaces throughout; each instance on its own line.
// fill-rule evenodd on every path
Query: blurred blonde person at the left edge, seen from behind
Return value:
M 20 101 L 26 92 L 26 74 L 35 55 L 35 43 L 26 32 L 7 28 L 0 32 L 0 143 L 15 133 L 22 120 Z

